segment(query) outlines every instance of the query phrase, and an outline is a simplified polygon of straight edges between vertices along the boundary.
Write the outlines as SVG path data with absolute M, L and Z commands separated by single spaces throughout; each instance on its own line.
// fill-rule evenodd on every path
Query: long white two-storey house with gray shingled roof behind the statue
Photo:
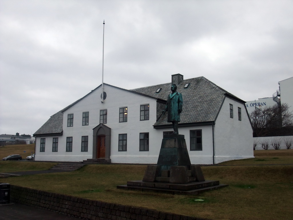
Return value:
M 104 84 L 52 115 L 34 133 L 35 160 L 156 164 L 163 133 L 173 131 L 159 118 L 171 85 L 183 96 L 179 134 L 185 135 L 192 164 L 253 157 L 252 127 L 245 102 L 204 77 L 139 89 Z

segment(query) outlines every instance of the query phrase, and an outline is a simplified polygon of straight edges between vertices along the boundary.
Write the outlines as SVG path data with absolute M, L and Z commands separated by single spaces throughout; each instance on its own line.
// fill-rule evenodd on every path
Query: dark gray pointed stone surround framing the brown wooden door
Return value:
M 99 124 L 93 128 L 93 159 L 97 158 L 98 136 L 105 136 L 105 159 L 110 160 L 111 155 L 111 128 L 105 124 Z

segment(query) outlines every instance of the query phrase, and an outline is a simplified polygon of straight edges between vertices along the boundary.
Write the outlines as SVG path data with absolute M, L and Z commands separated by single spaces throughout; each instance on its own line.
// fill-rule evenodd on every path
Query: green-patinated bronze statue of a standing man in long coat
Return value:
M 168 101 L 163 111 L 165 114 L 168 111 L 168 122 L 173 124 L 173 134 L 178 134 L 178 122 L 180 121 L 180 113 L 182 111 L 183 99 L 180 92 L 176 92 L 177 86 L 173 84 L 171 87 L 172 93 L 168 96 Z

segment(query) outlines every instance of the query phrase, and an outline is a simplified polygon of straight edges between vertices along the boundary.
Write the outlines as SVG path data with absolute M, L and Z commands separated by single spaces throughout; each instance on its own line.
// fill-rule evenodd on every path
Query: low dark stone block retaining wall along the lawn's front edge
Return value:
M 203 220 L 10 185 L 11 202 L 90 220 Z M 205 219 L 207 220 L 207 219 Z

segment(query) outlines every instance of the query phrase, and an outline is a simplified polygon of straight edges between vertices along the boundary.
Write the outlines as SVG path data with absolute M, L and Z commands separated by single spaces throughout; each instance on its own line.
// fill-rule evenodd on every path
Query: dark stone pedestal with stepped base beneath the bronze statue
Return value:
M 127 181 L 117 189 L 172 194 L 198 194 L 220 185 L 219 181 L 205 180 L 201 167 L 191 165 L 184 135 L 164 135 L 157 165 L 148 165 L 143 180 Z

